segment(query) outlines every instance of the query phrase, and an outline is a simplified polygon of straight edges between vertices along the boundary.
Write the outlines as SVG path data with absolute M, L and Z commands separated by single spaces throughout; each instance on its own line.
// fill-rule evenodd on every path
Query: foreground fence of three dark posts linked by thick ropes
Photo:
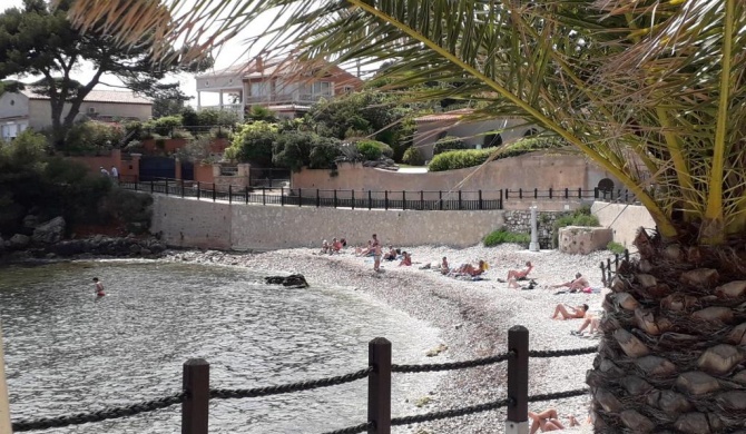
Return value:
M 548 358 L 566 357 L 583 354 L 593 354 L 598 347 L 559 349 L 559 351 L 529 351 L 529 331 L 523 326 L 514 326 L 508 331 L 509 351 L 492 357 L 478 358 L 464 362 L 452 362 L 426 365 L 395 365 L 391 363 L 391 342 L 376 337 L 369 343 L 369 365 L 354 373 L 306 381 L 278 386 L 257 387 L 248 389 L 210 388 L 209 364 L 202 359 L 189 359 L 184 364 L 183 389 L 179 393 L 159 400 L 147 401 L 125 407 L 107 408 L 95 413 L 66 415 L 59 417 L 39 418 L 31 421 L 16 421 L 13 432 L 48 430 L 70 425 L 80 425 L 118 417 L 132 416 L 181 404 L 181 433 L 206 434 L 209 421 L 210 400 L 237 400 L 261 396 L 278 395 L 301 391 L 311 391 L 320 387 L 330 387 L 367 378 L 367 418 L 357 425 L 330 431 L 325 434 L 390 434 L 392 426 L 410 425 L 413 423 L 459 417 L 468 414 L 481 413 L 501 407 L 507 408 L 507 426 L 513 426 L 516 433 L 528 432 L 528 403 L 560 400 L 588 394 L 588 388 L 540 394 L 529 396 L 529 357 Z M 391 374 L 421 373 L 434 371 L 453 371 L 477 366 L 492 365 L 508 362 L 507 397 L 477 404 L 467 407 L 431 412 L 404 417 L 391 417 Z M 521 431 L 524 427 L 524 431 Z M 511 432 L 512 433 L 512 432 Z

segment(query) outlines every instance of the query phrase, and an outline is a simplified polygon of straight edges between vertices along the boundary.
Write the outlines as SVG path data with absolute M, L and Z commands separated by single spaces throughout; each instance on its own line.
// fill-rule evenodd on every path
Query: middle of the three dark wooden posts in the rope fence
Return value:
M 369 434 L 391 434 L 391 342 L 376 337 L 367 344 L 367 421 Z

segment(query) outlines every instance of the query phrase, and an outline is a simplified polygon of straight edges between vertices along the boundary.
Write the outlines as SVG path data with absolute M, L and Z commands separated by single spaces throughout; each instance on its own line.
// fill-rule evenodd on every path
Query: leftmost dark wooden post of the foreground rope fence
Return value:
M 184 364 L 181 403 L 181 434 L 207 434 L 209 412 L 209 363 L 190 358 Z

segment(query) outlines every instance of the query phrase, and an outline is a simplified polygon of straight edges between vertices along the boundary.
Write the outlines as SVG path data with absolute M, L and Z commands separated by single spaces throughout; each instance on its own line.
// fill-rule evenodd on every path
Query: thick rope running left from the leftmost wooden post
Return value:
M 186 394 L 181 392 L 159 400 L 128 405 L 126 407 L 105 408 L 94 413 L 79 413 L 58 417 L 38 418 L 33 421 L 18 421 L 12 423 L 12 430 L 14 433 L 20 433 L 23 431 L 57 428 L 70 425 L 81 425 L 89 422 L 101 422 L 110 418 L 134 416 L 136 414 L 154 412 L 156 410 L 180 404 L 184 402 L 185 397 Z

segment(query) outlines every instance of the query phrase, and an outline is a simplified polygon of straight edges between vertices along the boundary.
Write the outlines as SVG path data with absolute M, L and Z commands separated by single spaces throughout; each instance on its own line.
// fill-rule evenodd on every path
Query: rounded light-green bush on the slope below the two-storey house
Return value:
M 261 167 L 272 167 L 272 147 L 278 140 L 275 124 L 257 121 L 246 124 L 234 135 L 225 157 L 239 162 L 252 162 Z

